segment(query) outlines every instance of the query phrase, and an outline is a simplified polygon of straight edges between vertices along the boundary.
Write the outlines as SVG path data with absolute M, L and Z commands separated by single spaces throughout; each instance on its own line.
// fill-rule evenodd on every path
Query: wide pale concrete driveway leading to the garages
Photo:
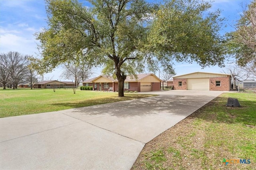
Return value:
M 145 143 L 222 92 L 160 96 L 0 119 L 0 169 L 130 169 Z

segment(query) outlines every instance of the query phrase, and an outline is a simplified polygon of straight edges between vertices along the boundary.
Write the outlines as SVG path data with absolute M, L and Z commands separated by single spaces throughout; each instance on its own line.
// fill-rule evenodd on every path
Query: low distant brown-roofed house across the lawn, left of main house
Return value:
M 34 84 L 34 88 L 70 88 L 74 86 L 74 82 L 60 82 L 58 80 L 46 80 Z

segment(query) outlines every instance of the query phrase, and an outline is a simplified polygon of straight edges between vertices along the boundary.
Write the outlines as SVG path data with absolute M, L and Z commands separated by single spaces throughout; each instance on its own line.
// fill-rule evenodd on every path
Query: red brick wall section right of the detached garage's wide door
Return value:
M 216 81 L 220 81 L 220 86 L 216 86 Z M 215 91 L 229 91 L 230 77 L 212 77 L 210 78 L 210 90 Z

